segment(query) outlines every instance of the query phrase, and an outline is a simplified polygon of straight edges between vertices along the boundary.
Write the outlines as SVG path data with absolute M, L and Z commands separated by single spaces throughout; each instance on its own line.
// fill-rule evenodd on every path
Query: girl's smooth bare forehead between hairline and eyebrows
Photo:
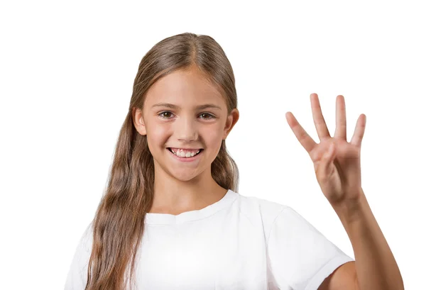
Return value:
M 196 70 L 177 71 L 159 79 L 148 90 L 146 104 L 158 102 L 169 103 L 204 103 L 224 105 L 219 89 Z

